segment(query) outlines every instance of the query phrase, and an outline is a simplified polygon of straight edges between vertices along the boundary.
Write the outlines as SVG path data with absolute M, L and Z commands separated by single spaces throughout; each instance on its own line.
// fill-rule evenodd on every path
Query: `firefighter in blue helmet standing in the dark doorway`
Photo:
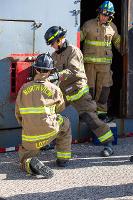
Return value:
M 81 27 L 84 41 L 83 56 L 85 72 L 92 98 L 97 102 L 99 117 L 107 118 L 107 100 L 112 86 L 112 43 L 120 51 L 120 35 L 114 18 L 114 6 L 105 1 L 98 8 L 98 17 L 88 20 Z

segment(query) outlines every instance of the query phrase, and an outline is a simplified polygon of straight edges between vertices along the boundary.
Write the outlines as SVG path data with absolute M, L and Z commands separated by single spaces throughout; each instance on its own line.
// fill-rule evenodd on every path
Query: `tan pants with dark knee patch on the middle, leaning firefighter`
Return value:
M 88 128 L 98 137 L 101 143 L 113 140 L 113 134 L 109 126 L 100 120 L 96 114 L 96 103 L 89 93 L 79 100 L 71 103 L 79 113 L 79 120 L 85 122 Z

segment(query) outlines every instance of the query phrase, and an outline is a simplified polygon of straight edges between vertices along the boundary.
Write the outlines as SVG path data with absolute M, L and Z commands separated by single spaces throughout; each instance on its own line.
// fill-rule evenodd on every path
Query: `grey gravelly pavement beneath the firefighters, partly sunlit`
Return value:
M 110 158 L 102 146 L 73 144 L 66 169 L 55 166 L 54 150 L 39 158 L 54 171 L 52 179 L 27 176 L 19 169 L 17 152 L 0 154 L 0 197 L 9 200 L 133 200 L 133 137 L 119 139 Z

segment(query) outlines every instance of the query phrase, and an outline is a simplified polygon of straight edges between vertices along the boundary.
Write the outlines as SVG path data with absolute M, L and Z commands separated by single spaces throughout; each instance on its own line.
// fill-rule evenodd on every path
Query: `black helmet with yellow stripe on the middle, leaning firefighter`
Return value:
M 66 34 L 66 32 L 67 32 L 67 30 L 63 29 L 61 26 L 50 27 L 44 35 L 44 39 L 46 41 L 46 44 L 47 45 L 52 44 L 53 42 L 55 42 L 59 38 L 63 37 Z

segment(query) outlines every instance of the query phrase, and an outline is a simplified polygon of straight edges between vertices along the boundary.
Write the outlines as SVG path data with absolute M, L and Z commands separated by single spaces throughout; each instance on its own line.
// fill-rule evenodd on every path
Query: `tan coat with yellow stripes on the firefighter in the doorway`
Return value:
M 111 64 L 112 45 L 120 51 L 120 35 L 113 22 L 100 25 L 98 19 L 88 20 L 81 27 L 81 41 L 85 63 Z

